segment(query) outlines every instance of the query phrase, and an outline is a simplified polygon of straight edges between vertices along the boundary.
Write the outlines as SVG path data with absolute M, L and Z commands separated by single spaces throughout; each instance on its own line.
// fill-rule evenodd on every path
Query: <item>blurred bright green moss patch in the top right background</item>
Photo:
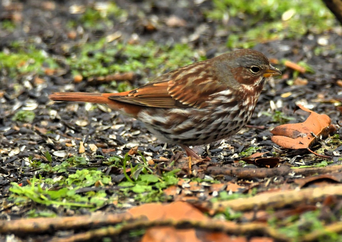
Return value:
M 235 32 L 228 36 L 229 48 L 250 48 L 272 39 L 300 38 L 307 32 L 326 31 L 335 23 L 333 15 L 318 0 L 214 0 L 213 5 L 213 10 L 207 12 L 209 18 L 240 18 L 241 25 L 228 26 Z M 285 12 L 290 17 L 283 21 Z M 245 15 L 249 17 L 245 19 Z

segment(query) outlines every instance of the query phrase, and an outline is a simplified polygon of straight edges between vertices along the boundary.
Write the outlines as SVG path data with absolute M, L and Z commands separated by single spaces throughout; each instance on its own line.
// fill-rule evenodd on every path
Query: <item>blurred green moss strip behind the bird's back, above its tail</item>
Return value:
M 141 73 L 150 70 L 153 75 L 193 62 L 196 53 L 186 44 L 158 46 L 144 44 L 107 43 L 105 38 L 80 46 L 76 54 L 67 58 L 74 75 L 83 77 L 106 76 L 117 72 Z M 198 58 L 197 60 L 201 60 Z

